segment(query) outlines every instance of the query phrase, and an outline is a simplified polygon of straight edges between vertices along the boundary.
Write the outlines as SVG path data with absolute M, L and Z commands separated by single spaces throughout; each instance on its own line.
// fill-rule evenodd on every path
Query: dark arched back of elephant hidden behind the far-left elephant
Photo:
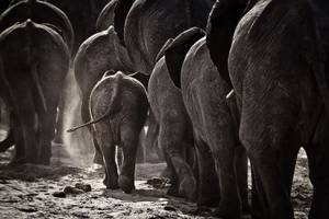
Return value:
M 75 33 L 69 19 L 57 7 L 39 0 L 21 0 L 12 4 L 0 16 L 0 33 L 14 23 L 27 19 L 54 28 L 63 36 L 69 49 L 72 49 Z

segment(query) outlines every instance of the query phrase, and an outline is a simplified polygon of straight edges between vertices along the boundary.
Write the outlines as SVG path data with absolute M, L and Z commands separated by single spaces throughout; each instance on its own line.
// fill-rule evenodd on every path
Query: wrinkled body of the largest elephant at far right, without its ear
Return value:
M 328 217 L 328 88 L 314 16 L 304 0 L 261 0 L 235 32 L 228 69 L 254 176 L 254 218 L 294 218 L 290 194 L 300 146 L 314 185 L 309 218 Z

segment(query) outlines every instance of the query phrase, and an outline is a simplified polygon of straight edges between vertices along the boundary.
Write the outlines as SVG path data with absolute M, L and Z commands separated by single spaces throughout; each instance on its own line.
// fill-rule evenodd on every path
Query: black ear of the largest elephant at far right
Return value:
M 206 44 L 211 58 L 217 67 L 220 78 L 230 87 L 231 81 L 228 73 L 228 54 L 230 50 L 235 30 L 240 21 L 246 4 L 237 0 L 216 1 L 207 23 Z

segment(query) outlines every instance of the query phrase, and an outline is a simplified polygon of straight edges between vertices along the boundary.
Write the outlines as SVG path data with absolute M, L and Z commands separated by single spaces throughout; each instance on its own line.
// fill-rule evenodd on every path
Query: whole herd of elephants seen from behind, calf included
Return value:
M 327 0 L 0 4 L 0 95 L 11 126 L 0 149 L 15 145 L 14 162 L 49 164 L 73 69 L 83 124 L 68 131 L 88 127 L 107 188 L 135 188 L 147 122 L 146 142 L 167 163 L 168 194 L 215 207 L 219 218 L 292 219 L 303 147 L 314 187 L 309 218 L 328 218 Z

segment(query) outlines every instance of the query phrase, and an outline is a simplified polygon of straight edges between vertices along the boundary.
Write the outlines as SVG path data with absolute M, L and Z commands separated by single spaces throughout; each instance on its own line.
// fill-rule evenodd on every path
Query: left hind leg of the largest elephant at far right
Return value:
M 287 178 L 293 178 L 292 160 L 284 161 L 275 151 L 264 151 L 261 154 L 249 152 L 249 158 L 254 166 L 254 182 L 259 201 L 262 204 L 264 218 L 293 219 L 294 212 L 290 200 L 291 184 Z M 293 165 L 294 166 L 294 165 Z

